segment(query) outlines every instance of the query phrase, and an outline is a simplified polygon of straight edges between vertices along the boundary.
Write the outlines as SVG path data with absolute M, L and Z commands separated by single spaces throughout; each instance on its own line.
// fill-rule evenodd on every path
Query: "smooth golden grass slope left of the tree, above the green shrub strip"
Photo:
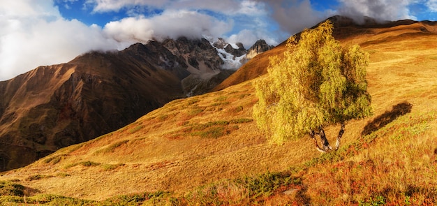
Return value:
M 255 101 L 251 82 L 172 101 L 118 131 L 61 149 L 2 178 L 20 179 L 41 193 L 102 199 L 182 192 L 222 178 L 284 170 L 318 155 L 302 140 L 267 144 L 251 117 Z M 48 178 L 29 179 L 33 175 Z

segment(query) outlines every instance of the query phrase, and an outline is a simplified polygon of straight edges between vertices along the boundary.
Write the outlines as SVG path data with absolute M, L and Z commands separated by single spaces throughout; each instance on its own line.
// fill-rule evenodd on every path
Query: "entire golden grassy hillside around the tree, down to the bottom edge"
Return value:
M 250 80 L 172 101 L 118 131 L 6 172 L 0 191 L 8 196 L 0 200 L 435 205 L 437 36 L 431 31 L 434 26 L 417 23 L 342 41 L 371 54 L 367 79 L 375 115 L 348 122 L 337 152 L 320 154 L 309 137 L 269 144 L 252 120 L 257 99 Z M 327 129 L 330 141 L 338 128 Z

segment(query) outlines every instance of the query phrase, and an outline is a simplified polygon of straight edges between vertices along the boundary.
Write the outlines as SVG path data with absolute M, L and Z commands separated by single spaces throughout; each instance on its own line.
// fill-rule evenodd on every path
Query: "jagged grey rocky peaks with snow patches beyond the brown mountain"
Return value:
M 168 39 L 162 44 L 188 66 L 190 75 L 182 80 L 182 88 L 187 96 L 204 94 L 223 82 L 248 61 L 248 52 L 255 56 L 272 48 L 266 46 L 258 50 L 246 50 L 242 43 L 226 43 L 223 38 L 192 40 L 182 37 Z

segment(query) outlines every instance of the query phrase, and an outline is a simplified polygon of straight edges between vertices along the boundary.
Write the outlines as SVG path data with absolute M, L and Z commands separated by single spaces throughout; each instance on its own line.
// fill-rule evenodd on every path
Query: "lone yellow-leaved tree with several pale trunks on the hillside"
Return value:
M 258 103 L 253 117 L 258 127 L 282 143 L 310 135 L 320 152 L 332 150 L 324 127 L 340 124 L 338 149 L 345 123 L 372 114 L 367 92 L 369 54 L 358 45 L 343 48 L 332 36 L 329 20 L 290 37 L 283 59 L 270 59 L 268 75 L 255 81 Z M 316 135 L 320 137 L 319 147 Z

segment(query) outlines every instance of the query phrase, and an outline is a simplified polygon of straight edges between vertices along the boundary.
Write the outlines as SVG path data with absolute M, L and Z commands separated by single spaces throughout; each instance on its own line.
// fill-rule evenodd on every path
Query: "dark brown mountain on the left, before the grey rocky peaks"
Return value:
M 1 170 L 114 131 L 184 96 L 186 65 L 168 52 L 168 61 L 180 66 L 166 68 L 154 60 L 155 49 L 138 44 L 91 52 L 0 82 Z

